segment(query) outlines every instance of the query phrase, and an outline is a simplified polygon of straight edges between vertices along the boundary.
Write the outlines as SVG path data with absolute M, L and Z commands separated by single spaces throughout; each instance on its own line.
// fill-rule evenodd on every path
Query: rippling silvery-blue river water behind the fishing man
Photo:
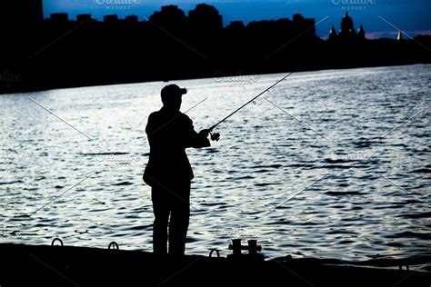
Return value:
M 283 75 L 175 83 L 199 130 Z M 145 124 L 164 85 L 1 95 L 0 242 L 151 251 Z M 268 258 L 430 254 L 430 87 L 431 65 L 289 76 L 188 150 L 186 253 L 243 238 Z

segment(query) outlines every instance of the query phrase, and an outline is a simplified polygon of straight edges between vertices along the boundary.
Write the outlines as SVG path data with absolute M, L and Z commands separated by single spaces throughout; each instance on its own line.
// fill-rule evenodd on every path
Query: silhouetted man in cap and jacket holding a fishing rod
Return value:
M 194 174 L 185 153 L 187 147 L 210 146 L 208 130 L 197 134 L 193 122 L 179 110 L 186 90 L 175 84 L 162 89 L 163 107 L 150 114 L 145 132 L 150 143 L 150 157 L 144 181 L 152 187 L 151 198 L 155 223 L 153 251 L 167 252 L 169 222 L 169 254 L 183 255 L 190 216 L 190 181 Z M 169 220 L 170 216 L 170 220 Z

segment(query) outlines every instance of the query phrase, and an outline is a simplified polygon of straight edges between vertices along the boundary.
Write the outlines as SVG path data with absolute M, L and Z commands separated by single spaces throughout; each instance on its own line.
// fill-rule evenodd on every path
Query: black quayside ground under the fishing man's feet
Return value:
M 231 260 L 188 255 L 155 258 L 149 252 L 72 246 L 0 244 L 5 286 L 426 286 L 431 272 L 353 266 L 335 260 Z M 373 260 L 363 265 L 416 262 Z

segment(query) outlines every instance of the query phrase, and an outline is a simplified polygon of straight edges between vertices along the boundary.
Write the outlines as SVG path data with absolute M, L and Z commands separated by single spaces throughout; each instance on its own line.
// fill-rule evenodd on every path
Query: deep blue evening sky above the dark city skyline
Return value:
M 96 19 L 104 15 L 150 16 L 162 5 L 178 5 L 185 14 L 195 5 L 215 5 L 223 15 L 224 25 L 231 21 L 270 20 L 292 18 L 299 13 L 316 19 L 316 33 L 326 38 L 334 25 L 340 29 L 340 21 L 346 10 L 352 16 L 357 29 L 363 25 L 368 38 L 395 38 L 397 30 L 407 35 L 431 35 L 430 0 L 44 0 L 44 14 L 65 12 L 71 19 L 78 14 L 91 14 Z

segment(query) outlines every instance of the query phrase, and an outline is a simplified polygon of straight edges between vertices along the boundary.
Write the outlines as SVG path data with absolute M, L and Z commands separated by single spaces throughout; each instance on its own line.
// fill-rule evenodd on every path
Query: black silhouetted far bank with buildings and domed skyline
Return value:
M 430 61 L 430 36 L 367 40 L 347 14 L 340 32 L 333 27 L 323 40 L 315 19 L 299 14 L 224 27 L 216 7 L 205 4 L 188 15 L 166 5 L 149 18 L 97 21 L 65 13 L 43 19 L 40 0 L 24 3 L 0 13 L 0 93 Z

